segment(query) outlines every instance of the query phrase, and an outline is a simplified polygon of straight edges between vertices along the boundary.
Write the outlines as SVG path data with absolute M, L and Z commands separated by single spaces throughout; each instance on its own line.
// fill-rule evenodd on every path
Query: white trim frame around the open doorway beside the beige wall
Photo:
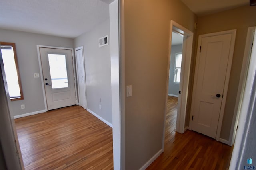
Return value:
M 168 66 L 167 66 L 167 77 L 166 77 L 166 101 L 164 110 L 164 131 L 163 131 L 163 141 L 162 149 L 164 150 L 164 139 L 165 139 L 165 126 L 166 126 L 166 112 L 167 112 L 167 101 L 168 101 L 168 84 L 170 77 L 170 58 L 171 58 L 171 46 L 172 46 L 172 32 L 186 36 L 183 39 L 182 45 L 182 66 L 181 66 L 181 79 L 180 79 L 180 91 L 182 93 L 179 95 L 178 107 L 180 112 L 177 113 L 176 120 L 176 131 L 179 133 L 184 133 L 187 129 L 185 127 L 186 118 L 186 108 L 188 100 L 188 84 L 190 78 L 190 63 L 192 55 L 192 45 L 193 45 L 193 35 L 192 31 L 189 31 L 182 25 L 176 23 L 175 21 L 170 21 L 170 38 L 169 38 L 169 51 L 168 51 Z

